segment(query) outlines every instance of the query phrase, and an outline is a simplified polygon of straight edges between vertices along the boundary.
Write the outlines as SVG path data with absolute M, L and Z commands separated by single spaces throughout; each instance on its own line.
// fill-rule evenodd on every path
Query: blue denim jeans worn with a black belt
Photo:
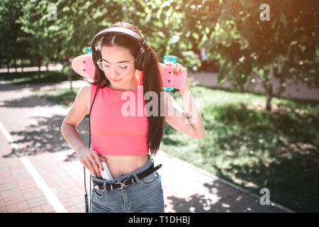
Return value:
M 103 184 L 104 190 L 92 189 L 91 213 L 164 213 L 164 197 L 161 178 L 158 172 L 138 179 L 141 172 L 152 166 L 154 160 L 149 155 L 148 161 L 138 170 L 116 179 L 99 179 L 91 175 L 94 182 Z M 122 189 L 107 190 L 106 184 L 123 182 L 134 177 L 136 182 Z

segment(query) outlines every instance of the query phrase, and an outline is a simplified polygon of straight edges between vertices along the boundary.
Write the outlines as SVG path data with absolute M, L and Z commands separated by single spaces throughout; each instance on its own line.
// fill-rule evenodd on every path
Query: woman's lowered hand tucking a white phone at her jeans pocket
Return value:
M 89 150 L 88 148 L 79 150 L 77 156 L 82 165 L 84 165 L 94 177 L 96 177 L 96 175 L 101 176 L 101 171 L 103 171 L 102 162 L 106 162 L 105 158 L 100 157 L 95 150 Z

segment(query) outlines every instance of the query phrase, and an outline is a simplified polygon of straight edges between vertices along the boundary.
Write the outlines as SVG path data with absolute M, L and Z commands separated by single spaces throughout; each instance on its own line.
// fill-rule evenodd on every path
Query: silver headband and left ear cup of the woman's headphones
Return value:
M 98 58 L 99 58 L 99 55 L 100 55 L 100 52 L 101 52 L 101 50 L 99 50 L 99 47 L 95 46 L 96 40 L 99 40 L 99 38 L 105 36 L 108 33 L 121 33 L 121 34 L 124 34 L 124 35 L 128 35 L 128 36 L 138 40 L 138 43 L 140 43 L 142 48 L 144 48 L 147 51 L 149 50 L 149 48 L 146 45 L 145 40 L 140 35 L 138 35 L 138 33 L 135 33 L 134 31 L 131 31 L 128 28 L 121 28 L 121 27 L 106 28 L 106 29 L 103 29 L 102 31 L 100 31 L 99 33 L 97 33 L 94 36 L 93 40 L 91 41 L 92 58 L 93 58 L 94 65 L 96 67 L 97 67 L 97 63 L 96 62 L 99 60 Z

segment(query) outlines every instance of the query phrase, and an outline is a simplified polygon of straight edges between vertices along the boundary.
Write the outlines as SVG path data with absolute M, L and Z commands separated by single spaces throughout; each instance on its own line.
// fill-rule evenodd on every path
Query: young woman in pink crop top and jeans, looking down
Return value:
M 128 28 L 142 36 L 138 28 L 125 21 L 111 27 Z M 99 67 L 96 67 L 94 82 L 79 89 L 61 127 L 63 137 L 75 150 L 82 165 L 91 172 L 92 181 L 99 185 L 95 185 L 92 192 L 91 212 L 164 212 L 162 184 L 150 154 L 155 155 L 159 149 L 164 121 L 191 137 L 205 137 L 201 114 L 188 83 L 180 89 L 186 111 L 162 90 L 159 60 L 152 48 L 148 47 L 149 57 L 142 72 L 134 65 L 140 51 L 134 38 L 111 33 L 103 36 L 100 48 L 101 59 L 97 62 Z M 186 72 L 177 63 L 174 73 L 179 74 L 181 70 Z M 129 109 L 135 110 L 136 114 L 123 114 L 123 106 L 127 103 L 121 99 L 124 92 L 133 94 L 134 101 Z M 145 99 L 147 92 L 158 97 L 156 105 L 152 102 L 152 114 L 145 108 L 149 101 L 153 101 Z M 93 99 L 90 150 L 82 143 L 76 127 L 89 112 Z M 141 103 L 147 113 L 138 114 Z M 158 111 L 158 114 L 153 111 Z M 103 171 L 102 161 L 107 162 L 113 179 L 98 177 Z

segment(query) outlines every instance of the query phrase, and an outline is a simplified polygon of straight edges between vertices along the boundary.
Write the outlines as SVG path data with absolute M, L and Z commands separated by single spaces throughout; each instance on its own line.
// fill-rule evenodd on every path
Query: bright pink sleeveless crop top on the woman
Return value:
M 97 88 L 91 84 L 90 107 Z M 90 116 L 92 150 L 99 155 L 148 154 L 148 118 L 144 110 L 142 86 L 133 91 L 100 87 Z

